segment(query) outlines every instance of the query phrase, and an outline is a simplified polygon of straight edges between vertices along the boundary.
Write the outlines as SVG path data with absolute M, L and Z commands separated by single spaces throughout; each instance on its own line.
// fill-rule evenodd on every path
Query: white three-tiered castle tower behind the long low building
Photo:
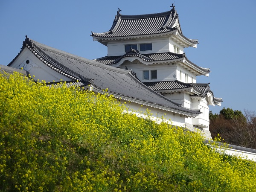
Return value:
M 201 109 L 189 123 L 209 130 L 209 105 L 221 105 L 222 99 L 213 96 L 209 83 L 196 82 L 197 76 L 209 76 L 210 70 L 186 57 L 184 48 L 196 48 L 198 40 L 183 35 L 175 6 L 171 7 L 148 15 L 121 15 L 119 9 L 108 32 L 92 32 L 93 41 L 108 47 L 108 55 L 94 61 L 132 69 L 157 93 L 184 108 Z

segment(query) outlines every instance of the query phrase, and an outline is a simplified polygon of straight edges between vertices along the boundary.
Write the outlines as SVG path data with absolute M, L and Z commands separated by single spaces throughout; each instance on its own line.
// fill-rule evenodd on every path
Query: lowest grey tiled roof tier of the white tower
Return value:
M 161 92 L 161 91 L 168 91 L 168 90 L 180 90 L 180 89 L 189 89 L 194 88 L 198 94 L 194 94 L 192 96 L 201 96 L 206 97 L 207 93 L 213 92 L 210 90 L 209 83 L 183 83 L 181 81 L 157 81 L 157 82 L 145 82 L 146 86 L 151 88 L 154 91 Z M 215 104 L 223 102 L 221 98 L 217 98 L 213 96 L 213 101 Z

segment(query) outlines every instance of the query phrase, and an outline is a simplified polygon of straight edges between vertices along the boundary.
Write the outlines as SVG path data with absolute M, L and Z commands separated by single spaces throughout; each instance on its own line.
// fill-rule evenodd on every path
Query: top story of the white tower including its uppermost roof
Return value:
M 123 55 L 130 49 L 141 54 L 182 54 L 185 47 L 197 47 L 198 40 L 183 35 L 175 6 L 171 7 L 168 12 L 147 15 L 121 15 L 119 9 L 108 32 L 92 32 L 91 36 L 108 47 L 108 56 Z

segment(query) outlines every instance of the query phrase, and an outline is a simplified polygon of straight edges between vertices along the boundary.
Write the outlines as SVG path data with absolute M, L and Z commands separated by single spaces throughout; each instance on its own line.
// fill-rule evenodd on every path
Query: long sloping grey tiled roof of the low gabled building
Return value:
M 61 73 L 71 80 L 92 84 L 98 89 L 108 88 L 108 92 L 120 97 L 136 100 L 138 103 L 146 102 L 148 105 L 168 108 L 168 110 L 196 116 L 200 110 L 188 109 L 180 106 L 170 99 L 149 89 L 137 80 L 130 70 L 122 70 L 105 64 L 100 64 L 86 58 L 73 55 L 36 41 L 26 38 L 23 48 L 27 47 L 37 58 L 53 70 Z M 16 57 L 17 58 L 17 57 Z M 13 61 L 12 61 L 13 62 Z M 9 64 L 11 65 L 12 62 Z

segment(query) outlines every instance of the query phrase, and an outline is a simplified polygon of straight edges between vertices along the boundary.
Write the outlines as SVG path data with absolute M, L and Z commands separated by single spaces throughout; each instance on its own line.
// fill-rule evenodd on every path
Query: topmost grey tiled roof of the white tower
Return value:
M 117 14 L 112 27 L 108 32 L 92 32 L 94 38 L 122 38 L 140 35 L 168 34 L 176 29 L 184 37 L 180 26 L 174 26 L 178 14 L 174 9 L 168 12 L 147 15 L 121 15 Z M 186 37 L 184 37 L 186 38 Z M 198 44 L 197 40 L 186 38 L 192 44 Z

